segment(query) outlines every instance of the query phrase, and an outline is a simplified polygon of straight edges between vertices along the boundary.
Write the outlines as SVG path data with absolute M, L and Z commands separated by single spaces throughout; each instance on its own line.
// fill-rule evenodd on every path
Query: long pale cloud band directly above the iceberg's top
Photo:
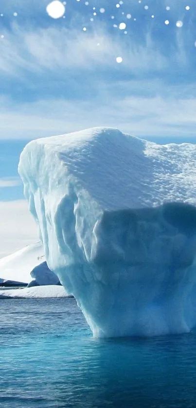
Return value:
M 41 114 L 39 113 L 41 112 Z M 94 126 L 111 126 L 138 137 L 195 136 L 196 99 L 119 96 L 99 101 L 43 100 L 0 114 L 0 138 L 36 139 Z

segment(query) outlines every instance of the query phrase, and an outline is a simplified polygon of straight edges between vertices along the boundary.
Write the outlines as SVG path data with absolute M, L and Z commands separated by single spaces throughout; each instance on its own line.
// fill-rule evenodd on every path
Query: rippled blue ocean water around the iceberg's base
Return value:
M 196 407 L 196 332 L 93 339 L 71 299 L 0 300 L 0 407 Z

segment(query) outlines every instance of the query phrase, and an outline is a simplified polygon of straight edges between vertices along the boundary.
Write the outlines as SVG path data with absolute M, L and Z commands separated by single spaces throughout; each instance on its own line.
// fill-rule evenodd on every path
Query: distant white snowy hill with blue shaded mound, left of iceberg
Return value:
M 41 242 L 28 245 L 0 259 L 0 278 L 29 284 L 58 284 L 58 278 L 48 268 Z M 1 282 L 1 280 L 0 280 Z

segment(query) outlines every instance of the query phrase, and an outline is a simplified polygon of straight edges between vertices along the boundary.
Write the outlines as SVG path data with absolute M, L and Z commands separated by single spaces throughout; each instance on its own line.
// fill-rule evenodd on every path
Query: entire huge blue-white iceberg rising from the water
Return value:
M 93 128 L 28 143 L 19 162 L 46 261 L 94 336 L 196 324 L 196 145 Z

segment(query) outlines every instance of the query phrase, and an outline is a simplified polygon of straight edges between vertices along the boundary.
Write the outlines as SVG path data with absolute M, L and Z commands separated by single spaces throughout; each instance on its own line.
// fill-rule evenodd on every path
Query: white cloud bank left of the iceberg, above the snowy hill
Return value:
M 25 200 L 0 201 L 0 258 L 38 240 L 36 222 Z

